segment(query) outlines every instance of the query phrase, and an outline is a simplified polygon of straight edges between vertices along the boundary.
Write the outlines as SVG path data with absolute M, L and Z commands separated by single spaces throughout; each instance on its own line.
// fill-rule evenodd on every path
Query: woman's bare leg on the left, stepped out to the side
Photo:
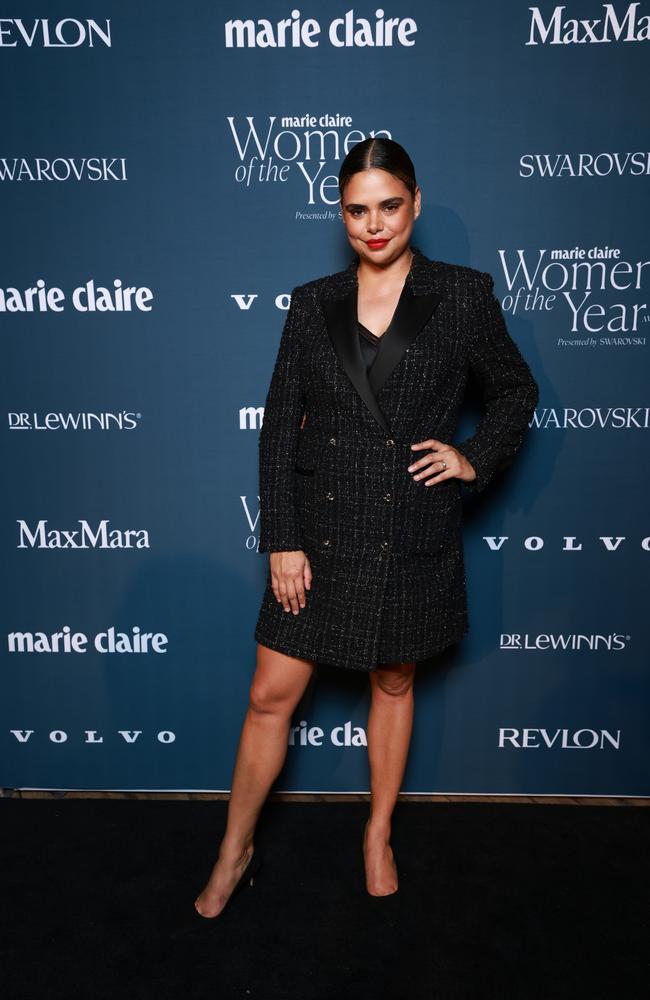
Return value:
M 285 656 L 258 643 L 226 831 L 212 874 L 194 903 L 204 917 L 216 917 L 221 912 L 248 864 L 257 819 L 287 756 L 291 715 L 313 671 L 313 661 Z

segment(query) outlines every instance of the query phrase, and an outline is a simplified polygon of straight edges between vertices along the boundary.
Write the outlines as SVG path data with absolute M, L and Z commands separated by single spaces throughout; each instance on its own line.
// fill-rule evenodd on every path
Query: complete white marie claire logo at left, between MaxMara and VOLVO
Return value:
M 84 632 L 73 632 L 64 625 L 60 632 L 10 632 L 10 653 L 87 653 L 90 640 Z M 134 625 L 130 632 L 119 632 L 111 625 L 92 639 L 98 653 L 166 653 L 169 639 L 164 632 L 143 632 Z

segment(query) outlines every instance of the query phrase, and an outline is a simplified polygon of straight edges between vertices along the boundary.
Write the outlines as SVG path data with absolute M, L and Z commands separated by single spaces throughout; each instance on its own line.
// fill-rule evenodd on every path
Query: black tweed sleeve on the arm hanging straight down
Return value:
M 258 552 L 303 547 L 296 517 L 294 464 L 304 409 L 300 320 L 305 308 L 304 293 L 297 286 L 291 292 L 259 437 Z

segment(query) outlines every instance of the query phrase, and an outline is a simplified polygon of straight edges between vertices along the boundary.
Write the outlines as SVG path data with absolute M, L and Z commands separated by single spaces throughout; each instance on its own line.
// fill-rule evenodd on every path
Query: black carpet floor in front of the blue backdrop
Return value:
M 400 889 L 363 882 L 363 803 L 267 802 L 263 868 L 193 901 L 225 802 L 3 799 L 3 1000 L 637 1000 L 650 809 L 399 803 Z

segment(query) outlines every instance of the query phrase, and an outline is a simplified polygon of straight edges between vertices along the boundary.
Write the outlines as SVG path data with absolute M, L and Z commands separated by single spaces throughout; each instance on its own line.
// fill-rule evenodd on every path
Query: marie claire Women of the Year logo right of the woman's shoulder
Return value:
M 561 307 L 568 310 L 569 332 L 587 334 L 559 337 L 558 347 L 645 346 L 640 330 L 650 322 L 647 303 L 624 296 L 643 294 L 650 260 L 623 260 L 620 249 L 609 246 L 517 250 L 514 258 L 498 253 L 508 289 L 504 312 L 545 315 Z

